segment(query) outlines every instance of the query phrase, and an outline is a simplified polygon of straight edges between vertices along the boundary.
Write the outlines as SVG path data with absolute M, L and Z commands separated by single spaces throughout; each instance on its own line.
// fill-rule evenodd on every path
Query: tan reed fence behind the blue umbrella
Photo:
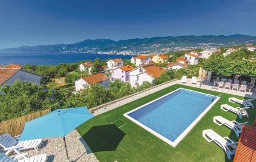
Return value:
M 50 113 L 51 109 L 42 110 L 41 112 L 35 112 L 32 114 L 24 115 L 19 118 L 10 119 L 0 123 L 0 135 L 8 133 L 11 136 L 20 135 L 23 132 L 24 124 L 35 118 L 41 117 L 44 114 Z

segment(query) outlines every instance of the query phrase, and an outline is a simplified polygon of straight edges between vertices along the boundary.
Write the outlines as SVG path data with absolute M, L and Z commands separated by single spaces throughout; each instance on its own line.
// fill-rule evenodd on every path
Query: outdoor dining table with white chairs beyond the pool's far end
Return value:
M 249 91 L 253 90 L 253 85 L 248 84 L 246 81 L 239 81 L 239 80 L 231 80 L 222 78 L 219 81 L 219 78 L 213 80 L 213 86 L 217 86 L 218 88 L 229 89 L 229 90 L 236 90 L 236 91 Z

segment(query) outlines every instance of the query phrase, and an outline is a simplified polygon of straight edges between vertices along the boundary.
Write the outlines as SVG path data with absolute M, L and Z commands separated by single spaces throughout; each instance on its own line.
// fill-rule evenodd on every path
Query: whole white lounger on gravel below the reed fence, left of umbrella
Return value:
M 38 151 L 38 146 L 42 144 L 42 139 L 26 140 L 26 141 L 16 141 L 14 137 L 10 136 L 8 133 L 0 135 L 0 146 L 3 147 L 6 155 L 11 151 L 15 151 L 17 154 L 21 154 L 19 150 L 25 149 L 35 149 Z

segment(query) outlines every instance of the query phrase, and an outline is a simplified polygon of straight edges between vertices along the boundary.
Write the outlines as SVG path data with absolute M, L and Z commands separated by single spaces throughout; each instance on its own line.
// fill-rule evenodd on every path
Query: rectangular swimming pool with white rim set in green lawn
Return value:
M 179 88 L 124 116 L 176 147 L 218 99 L 210 94 Z

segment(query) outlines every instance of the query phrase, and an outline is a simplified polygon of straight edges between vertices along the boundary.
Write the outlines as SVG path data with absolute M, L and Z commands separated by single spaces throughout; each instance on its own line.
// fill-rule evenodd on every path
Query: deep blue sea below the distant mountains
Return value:
M 133 55 L 92 54 L 92 53 L 0 53 L 0 64 L 42 64 L 56 65 L 59 63 L 78 62 L 84 60 L 123 58 L 131 59 Z

